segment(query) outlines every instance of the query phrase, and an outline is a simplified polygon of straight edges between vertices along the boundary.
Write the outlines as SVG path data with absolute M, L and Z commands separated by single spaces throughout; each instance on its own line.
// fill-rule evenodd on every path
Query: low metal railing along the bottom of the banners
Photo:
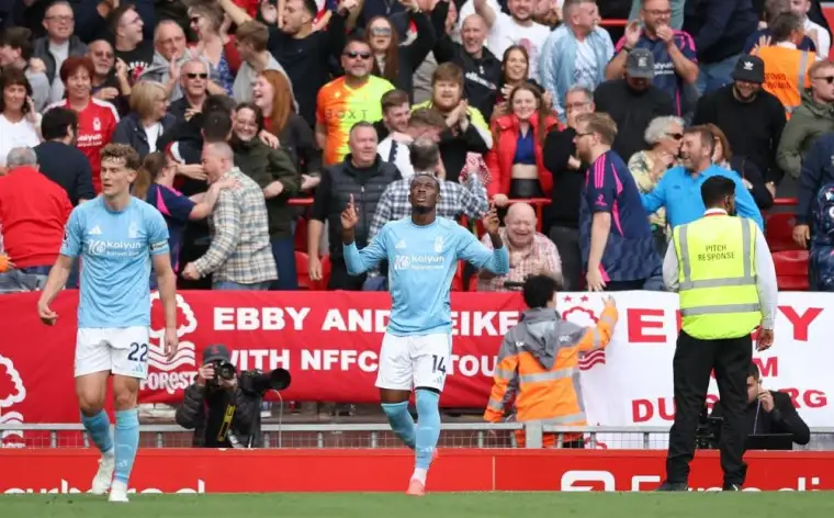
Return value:
M 140 425 L 143 448 L 188 448 L 193 431 L 178 425 Z M 397 448 L 399 440 L 387 424 L 328 424 L 261 426 L 263 448 Z M 516 433 L 523 433 L 526 448 L 541 448 L 545 435 L 555 433 L 556 446 L 577 433 L 585 448 L 591 449 L 665 449 L 668 427 L 635 426 L 542 426 L 538 423 L 448 423 L 441 426 L 442 448 L 516 448 Z M 5 447 L 87 448 L 87 433 L 80 424 L 11 425 L 0 424 Z M 834 450 L 834 427 L 811 429 L 811 442 L 794 444 L 794 450 Z

